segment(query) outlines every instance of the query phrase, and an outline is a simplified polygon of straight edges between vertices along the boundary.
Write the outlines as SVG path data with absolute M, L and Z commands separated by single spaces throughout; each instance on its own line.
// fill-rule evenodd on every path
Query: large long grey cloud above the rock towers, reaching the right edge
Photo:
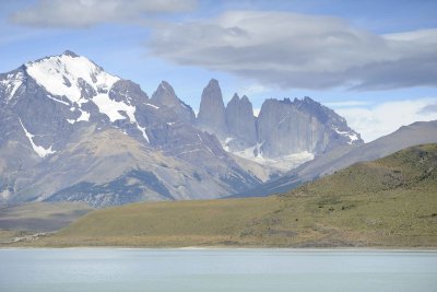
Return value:
M 156 26 L 150 52 L 283 89 L 437 85 L 437 30 L 377 35 L 344 20 L 228 11 Z

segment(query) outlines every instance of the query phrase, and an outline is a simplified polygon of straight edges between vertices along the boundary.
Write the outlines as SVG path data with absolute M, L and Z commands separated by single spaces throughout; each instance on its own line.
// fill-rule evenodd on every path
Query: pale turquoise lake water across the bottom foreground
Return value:
M 437 252 L 0 249 L 0 291 L 437 291 Z

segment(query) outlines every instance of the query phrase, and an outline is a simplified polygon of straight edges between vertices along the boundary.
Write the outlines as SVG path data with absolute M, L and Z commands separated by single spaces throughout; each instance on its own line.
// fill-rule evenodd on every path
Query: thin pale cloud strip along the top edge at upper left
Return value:
M 99 23 L 132 22 L 156 13 L 184 12 L 196 0 L 38 0 L 10 20 L 40 27 L 87 27 Z

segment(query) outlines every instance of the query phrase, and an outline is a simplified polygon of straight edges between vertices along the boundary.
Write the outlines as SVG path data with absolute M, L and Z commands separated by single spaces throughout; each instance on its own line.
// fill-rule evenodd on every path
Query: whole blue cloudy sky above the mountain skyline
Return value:
M 69 49 L 151 96 L 310 96 L 366 142 L 437 119 L 435 0 L 0 0 L 0 72 Z

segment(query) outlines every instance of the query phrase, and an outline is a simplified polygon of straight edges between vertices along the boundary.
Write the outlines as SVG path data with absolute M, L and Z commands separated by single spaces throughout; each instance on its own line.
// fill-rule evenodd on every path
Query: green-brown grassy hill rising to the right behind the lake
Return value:
M 267 198 L 91 212 L 40 246 L 437 246 L 437 144 L 358 163 Z

